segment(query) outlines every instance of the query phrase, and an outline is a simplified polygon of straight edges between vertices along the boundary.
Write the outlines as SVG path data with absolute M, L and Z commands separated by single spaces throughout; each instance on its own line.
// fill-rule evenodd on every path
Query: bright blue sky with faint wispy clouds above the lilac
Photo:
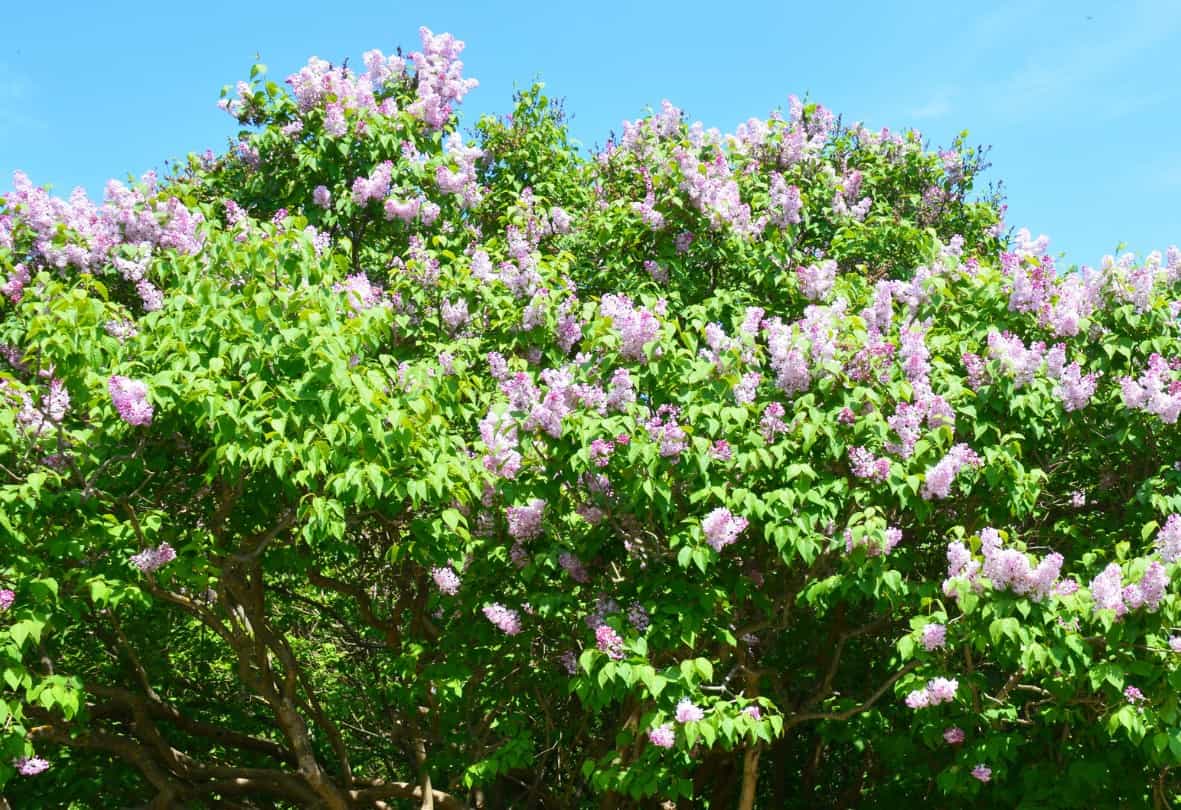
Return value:
M 1070 261 L 1181 243 L 1181 0 L 1038 2 L 6 4 L 0 189 L 58 194 L 221 149 L 215 106 L 255 54 L 281 81 L 315 54 L 468 43 L 465 122 L 540 77 L 587 146 L 663 98 L 732 130 L 810 94 L 846 120 L 991 144 L 1009 222 Z

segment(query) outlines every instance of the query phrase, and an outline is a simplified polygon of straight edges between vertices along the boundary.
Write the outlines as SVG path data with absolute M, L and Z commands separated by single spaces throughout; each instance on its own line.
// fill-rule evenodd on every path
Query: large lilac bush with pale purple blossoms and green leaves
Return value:
M 1174 803 L 1181 250 L 795 97 L 468 137 L 419 37 L 0 197 L 6 797 Z

